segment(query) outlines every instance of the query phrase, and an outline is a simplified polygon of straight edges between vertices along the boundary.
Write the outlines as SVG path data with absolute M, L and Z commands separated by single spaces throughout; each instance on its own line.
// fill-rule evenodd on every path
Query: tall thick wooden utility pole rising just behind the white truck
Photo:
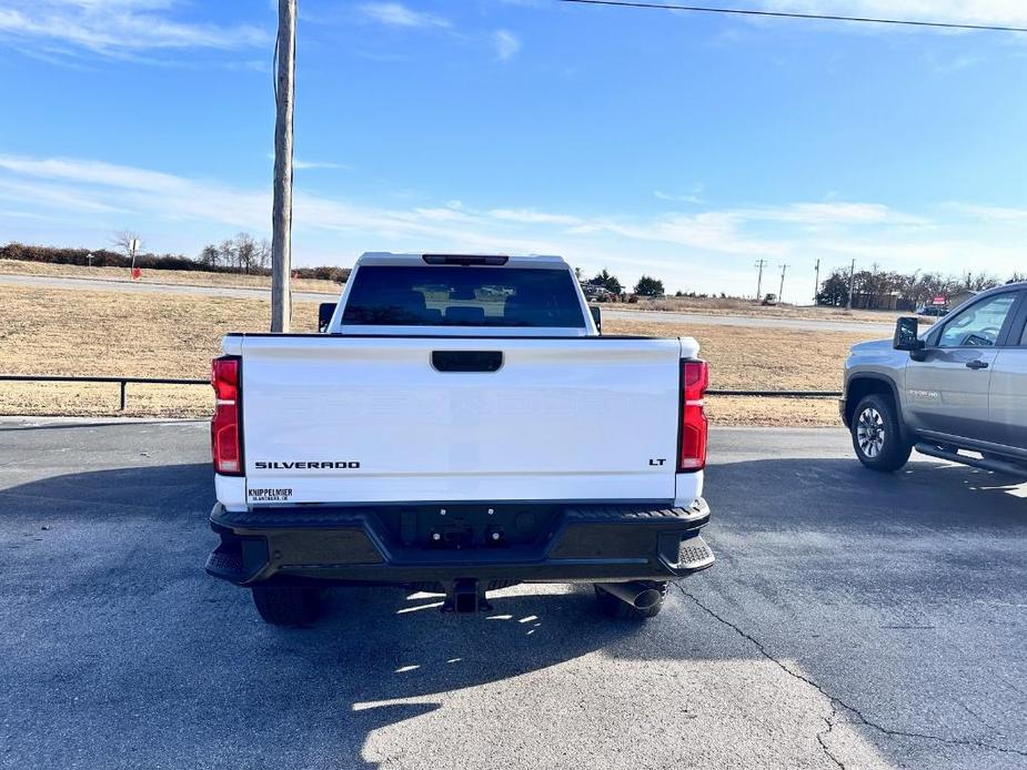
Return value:
M 292 326 L 292 111 L 296 72 L 296 0 L 279 0 L 274 89 L 274 201 L 271 204 L 271 331 Z

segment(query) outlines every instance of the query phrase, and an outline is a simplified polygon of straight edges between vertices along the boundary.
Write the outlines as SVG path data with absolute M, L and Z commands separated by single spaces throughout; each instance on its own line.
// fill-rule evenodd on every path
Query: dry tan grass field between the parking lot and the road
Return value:
M 208 376 L 221 336 L 263 331 L 265 300 L 0 285 L 0 373 Z M 296 303 L 296 331 L 312 332 L 316 305 Z M 838 332 L 607 321 L 606 331 L 695 336 L 713 386 L 753 389 L 840 387 L 848 347 L 866 335 Z M 127 415 L 207 416 L 202 386 L 130 385 Z M 711 417 L 731 425 L 834 425 L 833 401 L 712 398 Z M 0 414 L 117 415 L 117 385 L 0 383 Z

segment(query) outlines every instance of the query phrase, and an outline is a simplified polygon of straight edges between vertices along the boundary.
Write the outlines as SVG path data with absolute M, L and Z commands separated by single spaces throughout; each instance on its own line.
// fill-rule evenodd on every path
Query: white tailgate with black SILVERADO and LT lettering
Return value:
M 241 343 L 250 505 L 674 498 L 677 340 Z

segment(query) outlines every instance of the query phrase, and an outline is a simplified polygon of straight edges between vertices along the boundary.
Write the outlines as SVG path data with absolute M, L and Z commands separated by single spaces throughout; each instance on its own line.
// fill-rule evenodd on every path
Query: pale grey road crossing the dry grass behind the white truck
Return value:
M 0 285 L 37 286 L 42 288 L 70 288 L 114 292 L 155 292 L 167 294 L 200 294 L 205 296 L 226 296 L 240 300 L 271 300 L 270 288 L 242 288 L 232 286 L 190 286 L 170 283 L 131 283 L 129 281 L 110 281 L 103 278 L 72 278 L 50 275 L 2 275 Z M 316 292 L 293 292 L 292 297 L 299 302 L 332 302 L 338 294 Z M 692 323 L 713 326 L 748 326 L 755 328 L 795 328 L 819 332 L 858 332 L 876 334 L 880 337 L 892 335 L 894 323 L 873 323 L 865 321 L 819 321 L 817 318 L 759 317 L 748 315 L 716 315 L 704 313 L 671 313 L 664 311 L 633 311 L 623 306 L 612 310 L 603 306 L 604 318 L 626 321 L 652 321 L 655 323 Z

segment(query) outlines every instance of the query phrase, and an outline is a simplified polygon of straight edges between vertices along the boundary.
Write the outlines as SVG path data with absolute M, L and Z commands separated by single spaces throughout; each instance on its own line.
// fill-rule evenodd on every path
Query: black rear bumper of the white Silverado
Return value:
M 439 510 L 449 518 L 439 518 Z M 535 511 L 524 505 L 511 510 L 432 506 L 432 511 L 290 507 L 233 513 L 218 504 L 210 524 L 221 543 L 210 555 L 207 571 L 240 586 L 476 579 L 499 587 L 673 580 L 714 561 L 699 537 L 709 520 L 702 498 L 687 508 L 540 505 L 530 519 L 532 529 L 522 526 L 523 517 Z M 459 545 L 447 543 L 456 523 L 463 527 Z M 505 523 L 509 530 L 500 526 Z M 439 531 L 446 535 L 436 538 Z

